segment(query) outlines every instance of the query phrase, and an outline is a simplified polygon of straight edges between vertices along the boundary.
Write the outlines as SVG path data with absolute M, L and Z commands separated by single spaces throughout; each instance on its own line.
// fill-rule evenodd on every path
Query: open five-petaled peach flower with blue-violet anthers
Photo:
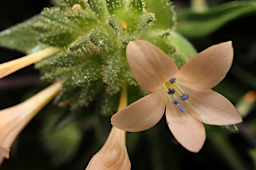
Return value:
M 210 46 L 180 70 L 159 48 L 147 41 L 129 42 L 127 61 L 139 85 L 151 94 L 111 118 L 125 131 L 149 129 L 165 112 L 174 137 L 192 152 L 205 142 L 203 123 L 225 126 L 242 122 L 229 100 L 210 90 L 227 74 L 233 60 L 232 42 Z

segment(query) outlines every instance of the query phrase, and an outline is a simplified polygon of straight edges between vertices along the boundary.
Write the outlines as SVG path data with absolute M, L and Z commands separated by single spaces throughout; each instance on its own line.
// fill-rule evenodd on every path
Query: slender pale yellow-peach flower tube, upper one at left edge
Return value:
M 17 58 L 15 60 L 0 64 L 0 78 L 8 76 L 9 74 L 16 72 L 17 70 L 20 70 L 21 68 L 29 66 L 30 64 L 33 64 L 39 60 L 42 60 L 43 58 L 47 58 L 48 56 L 56 54 L 57 52 L 59 52 L 59 50 L 59 48 L 48 47 L 40 50 L 39 52 L 28 54 L 27 56 L 23 56 L 21 58 Z

